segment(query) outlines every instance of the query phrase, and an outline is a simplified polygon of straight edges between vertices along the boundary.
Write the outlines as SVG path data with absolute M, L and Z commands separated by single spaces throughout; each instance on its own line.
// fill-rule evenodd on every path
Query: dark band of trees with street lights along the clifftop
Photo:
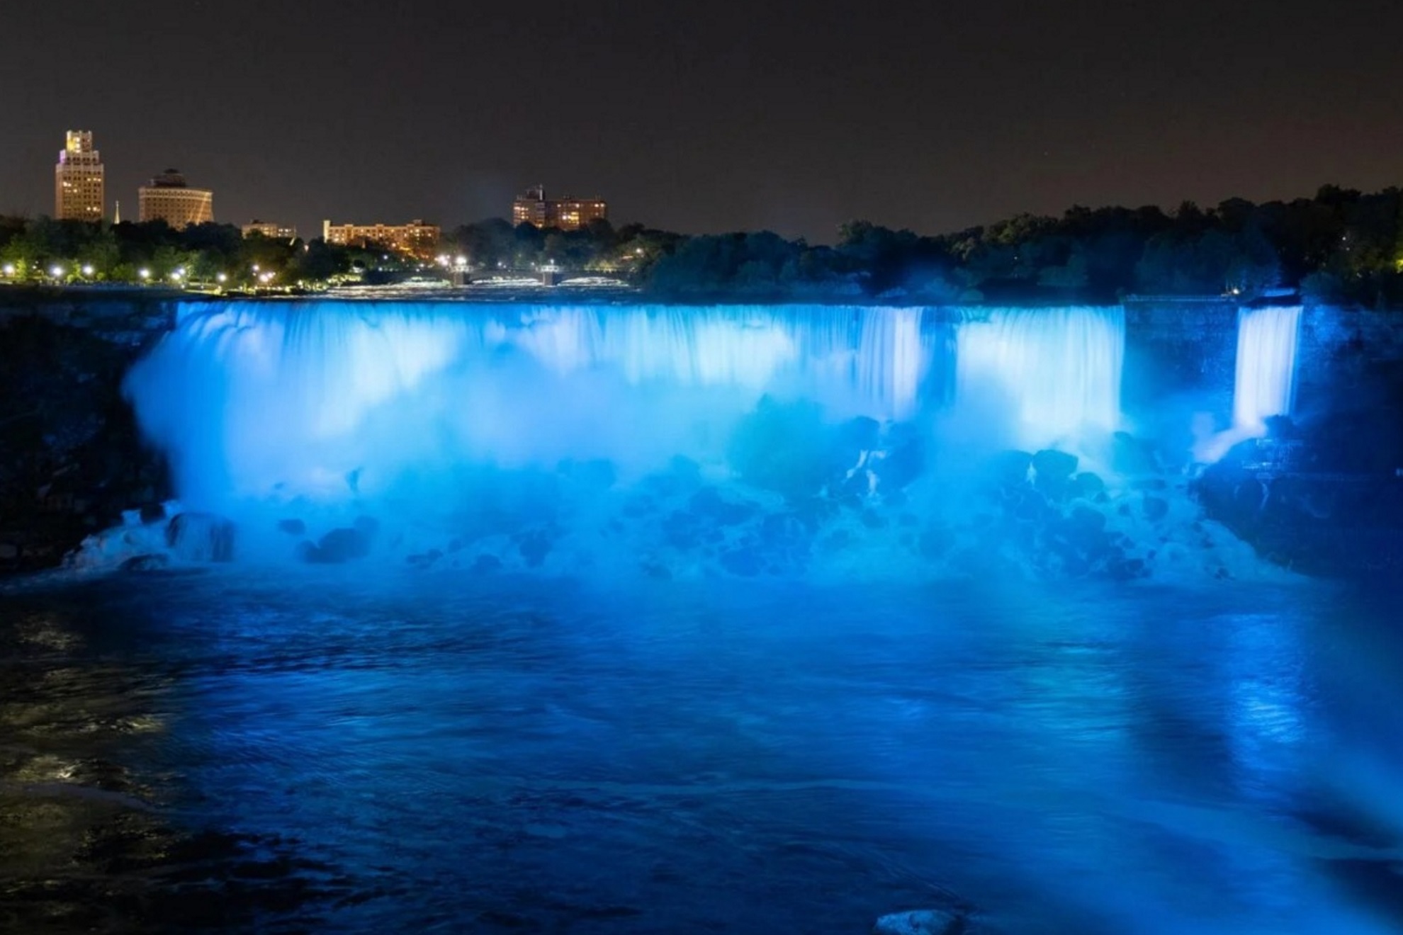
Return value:
M 445 233 L 434 257 L 376 244 L 243 237 L 233 224 L 93 224 L 0 216 L 0 283 L 279 294 L 335 285 L 603 276 L 647 296 L 960 303 L 1117 301 L 1127 294 L 1299 293 L 1403 307 L 1403 192 L 1334 185 L 1215 207 L 1073 206 L 922 236 L 868 221 L 835 245 L 770 231 L 687 236 L 596 220 L 561 231 L 502 219 Z

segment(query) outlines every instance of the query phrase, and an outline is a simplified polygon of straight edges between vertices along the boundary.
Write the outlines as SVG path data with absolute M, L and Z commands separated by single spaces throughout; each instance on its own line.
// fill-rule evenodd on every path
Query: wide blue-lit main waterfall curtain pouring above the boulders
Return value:
M 205 303 L 128 394 L 187 503 L 434 505 L 473 464 L 724 472 L 762 398 L 922 430 L 972 407 L 1048 446 L 1115 428 L 1122 343 L 1120 308 Z

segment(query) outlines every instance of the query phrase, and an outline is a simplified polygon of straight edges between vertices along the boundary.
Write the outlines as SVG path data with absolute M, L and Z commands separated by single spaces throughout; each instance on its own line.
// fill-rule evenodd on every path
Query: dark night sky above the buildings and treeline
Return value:
M 0 213 L 66 129 L 108 202 L 443 224 L 515 192 L 831 241 L 1403 184 L 1400 0 L 0 0 Z M 109 205 L 111 207 L 111 205 Z

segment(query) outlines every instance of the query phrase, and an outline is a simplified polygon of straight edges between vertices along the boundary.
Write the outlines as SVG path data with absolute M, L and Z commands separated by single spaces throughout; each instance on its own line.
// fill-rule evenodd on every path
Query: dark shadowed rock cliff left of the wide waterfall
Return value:
M 15 301 L 0 296 L 0 573 L 58 565 L 123 510 L 154 516 L 171 495 L 122 398 L 128 367 L 167 329 L 164 307 L 88 301 L 79 318 Z

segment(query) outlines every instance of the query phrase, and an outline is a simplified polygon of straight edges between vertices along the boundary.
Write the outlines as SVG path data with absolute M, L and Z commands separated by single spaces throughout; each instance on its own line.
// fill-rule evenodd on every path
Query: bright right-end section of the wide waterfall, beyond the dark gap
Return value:
M 993 308 L 957 332 L 955 397 L 999 412 L 1023 449 L 1113 432 L 1121 421 L 1125 313 L 1115 307 Z

